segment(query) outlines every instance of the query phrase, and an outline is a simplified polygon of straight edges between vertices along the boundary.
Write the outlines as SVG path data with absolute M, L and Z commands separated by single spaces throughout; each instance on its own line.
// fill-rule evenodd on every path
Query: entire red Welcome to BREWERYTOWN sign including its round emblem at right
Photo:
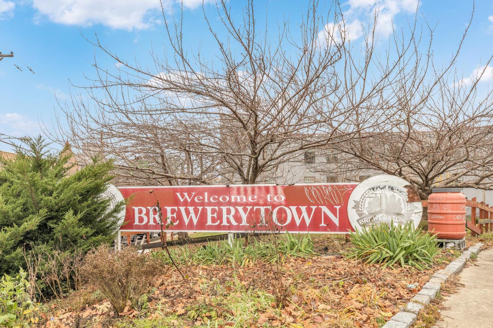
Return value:
M 163 226 L 189 232 L 347 233 L 373 223 L 417 227 L 423 212 L 408 182 L 386 174 L 360 184 L 118 187 L 117 194 L 129 199 L 121 231 L 160 231 L 156 200 Z

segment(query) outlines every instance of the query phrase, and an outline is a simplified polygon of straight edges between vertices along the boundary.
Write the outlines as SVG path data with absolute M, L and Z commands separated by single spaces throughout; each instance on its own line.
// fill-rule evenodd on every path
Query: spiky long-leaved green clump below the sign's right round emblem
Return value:
M 352 232 L 350 237 L 354 247 L 346 254 L 348 258 L 365 263 L 384 263 L 383 268 L 394 264 L 429 268 L 439 252 L 435 236 L 414 229 L 411 222 L 405 225 L 372 225 Z

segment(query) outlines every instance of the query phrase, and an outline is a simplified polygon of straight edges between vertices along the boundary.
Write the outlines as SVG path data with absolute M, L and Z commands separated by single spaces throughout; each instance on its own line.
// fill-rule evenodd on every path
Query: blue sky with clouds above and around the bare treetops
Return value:
M 211 1 L 211 0 L 209 0 Z M 179 0 L 163 0 L 167 14 L 179 8 Z M 244 1 L 229 2 L 238 17 Z M 291 24 L 299 21 L 302 0 L 255 1 L 259 19 L 270 26 L 282 17 Z M 349 22 L 365 22 L 375 0 L 341 0 Z M 396 28 L 413 19 L 417 0 L 377 0 L 384 19 Z M 430 25 L 437 25 L 434 35 L 435 59 L 450 59 L 472 10 L 469 0 L 423 0 L 420 15 Z M 184 35 L 190 47 L 204 41 L 204 54 L 210 35 L 205 29 L 202 0 L 183 0 Z M 458 68 L 464 77 L 493 54 L 493 0 L 475 2 L 473 25 L 459 57 Z M 213 4 L 205 3 L 210 17 L 216 18 Z M 214 20 L 213 20 L 214 21 Z M 383 35 L 390 24 L 382 25 Z M 322 27 L 320 27 L 322 29 Z M 275 30 L 275 29 L 273 29 Z M 14 58 L 0 62 L 0 133 L 13 136 L 33 135 L 40 131 L 38 122 L 49 122 L 59 112 L 59 101 L 70 100 L 75 85 L 89 85 L 94 77 L 91 67 L 96 56 L 100 66 L 114 68 L 114 61 L 95 51 L 82 35 L 101 42 L 121 58 L 142 64 L 151 63 L 149 50 L 163 51 L 164 29 L 159 0 L 0 0 L 0 51 L 13 51 Z M 82 34 L 82 35 L 81 35 Z M 16 68 L 19 66 L 22 71 Z M 31 67 L 35 74 L 28 67 Z M 492 69 L 493 72 L 493 69 Z M 85 77 L 86 76 L 86 77 Z M 489 73 L 482 83 L 493 82 Z M 55 97 L 57 96 L 57 98 Z M 0 145 L 0 149 L 8 149 Z

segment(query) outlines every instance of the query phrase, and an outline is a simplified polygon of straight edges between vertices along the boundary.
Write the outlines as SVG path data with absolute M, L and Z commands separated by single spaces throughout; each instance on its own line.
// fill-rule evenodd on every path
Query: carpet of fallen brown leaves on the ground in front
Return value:
M 211 320 L 210 312 L 187 319 L 187 312 L 197 304 L 211 307 L 221 319 L 218 327 L 231 327 L 236 316 L 231 304 L 216 303 L 217 286 L 221 293 L 238 293 L 231 286 L 235 279 L 244 290 L 273 292 L 272 267 L 257 262 L 242 268 L 227 265 L 188 266 L 181 268 L 190 277 L 183 282 L 175 269 L 154 279 L 154 292 L 149 295 L 147 308 L 138 311 L 130 306 L 115 313 L 108 300 L 90 304 L 81 311 L 70 308 L 52 308 L 44 314 L 47 328 L 75 327 L 80 320 L 93 323 L 94 327 L 111 327 L 102 324 L 108 318 L 121 316 L 129 320 L 143 317 L 149 320 L 162 316 L 176 315 L 181 320 L 171 319 L 176 327 L 194 327 Z M 294 286 L 294 293 L 282 309 L 271 306 L 249 313 L 251 320 L 245 327 L 269 325 L 280 327 L 361 327 L 375 328 L 396 313 L 401 304 L 415 295 L 429 279 L 433 270 L 420 272 L 413 268 L 380 269 L 377 265 L 361 265 L 341 256 L 315 257 L 311 259 L 288 259 L 283 270 L 286 285 Z M 418 284 L 416 288 L 407 288 Z M 414 286 L 413 286 L 414 287 Z M 215 319 L 215 318 L 212 318 Z M 106 326 L 105 326 L 106 325 Z

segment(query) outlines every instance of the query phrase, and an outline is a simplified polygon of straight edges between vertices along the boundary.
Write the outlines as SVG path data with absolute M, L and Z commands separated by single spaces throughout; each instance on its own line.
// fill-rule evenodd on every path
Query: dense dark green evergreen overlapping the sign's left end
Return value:
M 15 159 L 0 158 L 0 275 L 25 268 L 23 249 L 87 251 L 118 229 L 123 203 L 108 210 L 109 198 L 100 196 L 112 163 L 94 160 L 68 175 L 69 146 L 58 153 L 47 146 L 38 136 L 17 147 Z

